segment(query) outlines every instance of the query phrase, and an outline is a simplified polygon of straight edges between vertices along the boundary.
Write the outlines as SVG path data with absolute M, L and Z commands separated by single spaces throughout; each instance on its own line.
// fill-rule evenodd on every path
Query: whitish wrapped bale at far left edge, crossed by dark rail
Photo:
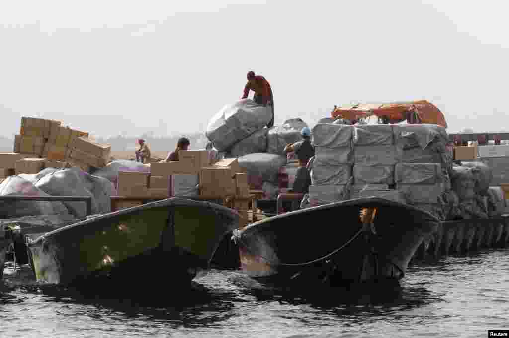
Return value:
M 19 176 L 10 176 L 0 184 L 0 196 L 48 196 L 30 181 Z M 36 215 L 66 215 L 67 208 L 62 202 L 53 201 L 3 201 L 0 203 L 0 218 L 14 218 Z

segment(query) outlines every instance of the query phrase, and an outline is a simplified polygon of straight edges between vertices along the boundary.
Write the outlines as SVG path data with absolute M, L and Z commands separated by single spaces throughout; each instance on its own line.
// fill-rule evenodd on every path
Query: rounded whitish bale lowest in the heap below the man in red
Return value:
M 287 164 L 285 156 L 268 154 L 268 153 L 252 153 L 238 158 L 239 166 L 247 171 L 248 179 L 251 177 L 259 177 L 262 182 L 270 182 L 274 185 L 279 184 L 279 170 Z

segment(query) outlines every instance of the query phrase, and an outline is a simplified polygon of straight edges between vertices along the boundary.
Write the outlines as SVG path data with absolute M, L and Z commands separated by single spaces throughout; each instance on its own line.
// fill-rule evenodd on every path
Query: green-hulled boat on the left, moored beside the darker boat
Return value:
M 238 223 L 227 207 L 174 197 L 62 227 L 27 239 L 27 247 L 36 278 L 49 283 L 105 275 L 123 282 L 139 276 L 137 282 L 150 285 L 185 283 L 208 268 L 222 237 Z

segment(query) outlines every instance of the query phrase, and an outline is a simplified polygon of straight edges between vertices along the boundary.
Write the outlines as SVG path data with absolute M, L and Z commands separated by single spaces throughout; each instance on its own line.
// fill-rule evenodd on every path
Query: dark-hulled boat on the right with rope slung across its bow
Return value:
M 235 230 L 232 239 L 242 270 L 261 282 L 351 284 L 402 278 L 439 224 L 411 205 L 369 197 L 270 217 Z

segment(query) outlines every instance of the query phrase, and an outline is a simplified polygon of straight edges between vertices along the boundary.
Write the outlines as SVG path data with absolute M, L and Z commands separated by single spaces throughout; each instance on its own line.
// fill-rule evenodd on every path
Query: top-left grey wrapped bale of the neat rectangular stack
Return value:
M 315 147 L 342 148 L 351 147 L 353 127 L 340 124 L 317 124 L 313 128 Z

